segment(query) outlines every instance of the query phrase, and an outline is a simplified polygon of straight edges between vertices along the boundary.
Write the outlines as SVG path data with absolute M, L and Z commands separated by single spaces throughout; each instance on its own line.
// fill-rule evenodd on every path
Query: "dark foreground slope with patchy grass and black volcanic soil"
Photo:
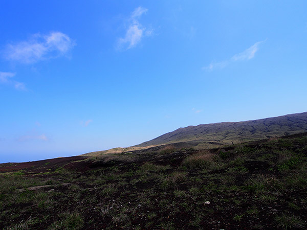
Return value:
M 211 150 L 106 154 L 48 170 L 51 164 L 41 164 L 42 173 L 2 167 L 0 229 L 307 226 L 306 133 Z M 49 187 L 19 190 L 42 185 Z

